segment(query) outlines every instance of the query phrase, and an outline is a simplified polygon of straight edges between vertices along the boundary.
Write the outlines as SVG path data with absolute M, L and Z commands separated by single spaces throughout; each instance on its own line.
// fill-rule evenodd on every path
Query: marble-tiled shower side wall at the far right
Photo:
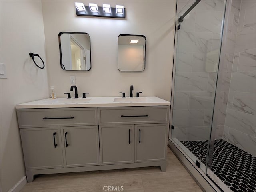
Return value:
M 222 81 L 226 84 L 223 139 L 256 156 L 256 1 L 234 2 L 229 30 L 236 33 L 226 54 L 226 78 Z

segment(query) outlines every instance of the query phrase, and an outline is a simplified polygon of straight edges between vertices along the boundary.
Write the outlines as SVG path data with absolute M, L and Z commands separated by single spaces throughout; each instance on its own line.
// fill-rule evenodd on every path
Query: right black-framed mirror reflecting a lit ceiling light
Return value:
M 118 36 L 118 70 L 144 71 L 146 37 L 120 34 Z

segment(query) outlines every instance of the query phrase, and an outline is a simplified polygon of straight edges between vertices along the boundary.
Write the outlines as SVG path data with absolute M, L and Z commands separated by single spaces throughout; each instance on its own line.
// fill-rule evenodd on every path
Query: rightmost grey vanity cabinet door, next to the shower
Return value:
M 135 162 L 166 159 L 167 123 L 135 125 Z

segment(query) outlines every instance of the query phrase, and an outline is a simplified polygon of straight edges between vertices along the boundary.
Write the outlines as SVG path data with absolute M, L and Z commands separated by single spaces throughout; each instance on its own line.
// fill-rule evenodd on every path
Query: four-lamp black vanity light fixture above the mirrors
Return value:
M 110 17 L 125 18 L 125 8 L 122 5 L 111 7 L 110 4 L 103 4 L 102 7 L 96 3 L 89 3 L 89 6 L 83 3 L 76 3 L 77 16 Z

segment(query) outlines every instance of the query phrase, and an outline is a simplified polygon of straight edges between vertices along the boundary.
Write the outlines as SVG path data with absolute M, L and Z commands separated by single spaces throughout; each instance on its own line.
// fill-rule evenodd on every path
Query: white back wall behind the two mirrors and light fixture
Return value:
M 82 1 L 85 5 L 89 1 Z M 91 1 L 90 1 L 91 2 Z M 105 1 L 94 1 L 102 6 Z M 43 1 L 44 32 L 49 84 L 55 85 L 57 97 L 70 92 L 70 76 L 76 76 L 79 97 L 155 95 L 170 100 L 174 42 L 175 1 L 109 1 L 126 8 L 126 19 L 76 16 L 75 1 Z M 58 12 L 56 12 L 58 10 Z M 91 38 L 92 69 L 64 71 L 60 68 L 58 33 L 86 32 Z M 146 36 L 146 69 L 143 72 L 118 71 L 117 38 L 119 34 Z M 72 93 L 74 97 L 74 93 Z

